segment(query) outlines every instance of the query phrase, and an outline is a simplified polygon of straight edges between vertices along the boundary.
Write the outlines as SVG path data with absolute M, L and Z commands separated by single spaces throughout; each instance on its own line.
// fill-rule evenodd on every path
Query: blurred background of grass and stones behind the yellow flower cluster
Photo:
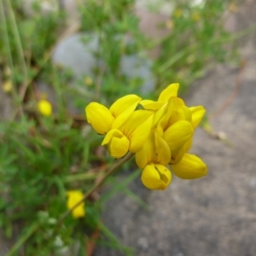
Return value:
M 0 255 L 256 255 L 256 1 L 0 0 Z M 179 83 L 207 177 L 149 191 L 84 107 Z M 38 102 L 52 107 L 42 113 Z

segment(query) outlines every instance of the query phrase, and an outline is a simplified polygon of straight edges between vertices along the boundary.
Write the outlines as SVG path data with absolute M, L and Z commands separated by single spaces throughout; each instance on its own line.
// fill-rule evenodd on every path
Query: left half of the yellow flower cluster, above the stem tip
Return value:
M 148 138 L 153 113 L 135 111 L 141 99 L 128 95 L 119 98 L 109 109 L 97 102 L 85 108 L 88 122 L 99 134 L 106 135 L 102 145 L 108 144 L 108 152 L 114 158 L 123 157 L 128 151 L 137 152 Z

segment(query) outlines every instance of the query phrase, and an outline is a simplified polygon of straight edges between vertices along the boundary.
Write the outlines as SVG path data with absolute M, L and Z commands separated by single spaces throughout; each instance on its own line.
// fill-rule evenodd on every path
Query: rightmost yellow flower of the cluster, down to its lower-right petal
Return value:
M 206 164 L 199 157 L 187 154 L 192 145 L 194 130 L 206 112 L 205 108 L 188 108 L 177 97 L 177 91 L 169 98 L 166 96 L 165 100 L 168 100 L 166 111 L 157 123 L 156 133 L 171 151 L 168 162 L 171 170 L 177 177 L 188 179 L 207 175 Z

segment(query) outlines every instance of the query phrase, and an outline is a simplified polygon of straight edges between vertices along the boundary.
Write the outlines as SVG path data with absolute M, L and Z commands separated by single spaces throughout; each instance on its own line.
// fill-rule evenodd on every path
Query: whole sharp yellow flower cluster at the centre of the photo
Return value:
M 185 179 L 207 175 L 206 164 L 195 154 L 188 154 L 205 108 L 187 107 L 177 97 L 178 87 L 170 84 L 157 102 L 128 95 L 109 109 L 97 102 L 85 108 L 88 122 L 105 135 L 102 145 L 108 144 L 110 155 L 136 155 L 137 166 L 143 170 L 142 182 L 148 189 L 166 189 L 172 172 Z M 138 104 L 143 109 L 137 109 Z

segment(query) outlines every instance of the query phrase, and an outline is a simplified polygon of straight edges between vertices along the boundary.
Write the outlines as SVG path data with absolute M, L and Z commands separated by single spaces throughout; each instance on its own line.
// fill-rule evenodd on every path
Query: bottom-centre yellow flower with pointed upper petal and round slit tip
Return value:
M 172 181 L 172 173 L 166 165 L 171 151 L 165 140 L 151 131 L 143 148 L 136 154 L 137 166 L 143 169 L 142 182 L 148 189 L 166 189 Z

